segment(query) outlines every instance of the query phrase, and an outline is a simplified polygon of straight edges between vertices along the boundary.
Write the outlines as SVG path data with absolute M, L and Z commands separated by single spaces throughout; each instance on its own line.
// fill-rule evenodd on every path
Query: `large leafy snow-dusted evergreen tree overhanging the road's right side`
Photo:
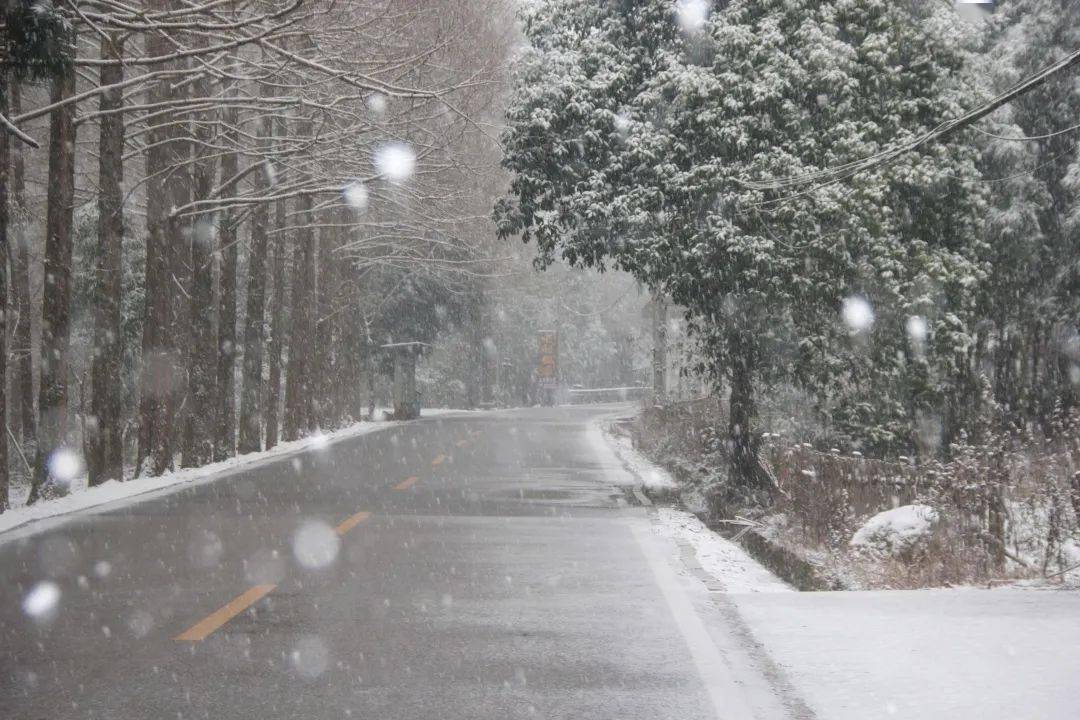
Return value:
M 985 249 L 970 146 L 809 192 L 746 185 L 874 154 L 959 112 L 971 92 L 955 17 L 876 0 L 734 0 L 690 24 L 678 11 L 538 5 L 503 232 L 535 239 L 542 261 L 613 261 L 689 309 L 704 369 L 731 389 L 744 484 L 759 479 L 761 382 L 813 389 L 881 449 L 928 420 L 958 426 Z M 850 323 L 846 308 L 861 309 Z

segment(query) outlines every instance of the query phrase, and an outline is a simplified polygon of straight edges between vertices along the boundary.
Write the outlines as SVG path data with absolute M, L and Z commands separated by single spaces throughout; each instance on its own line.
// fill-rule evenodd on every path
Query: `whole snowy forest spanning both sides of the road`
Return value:
M 393 341 L 440 339 L 432 403 L 536 402 L 556 326 L 564 382 L 636 386 L 667 303 L 669 383 L 724 399 L 750 487 L 766 412 L 876 457 L 1053 437 L 1075 72 L 923 138 L 1075 53 L 1080 10 L 958 10 L 10 2 L 0 468 L 32 502 L 67 449 L 93 485 L 338 426 Z

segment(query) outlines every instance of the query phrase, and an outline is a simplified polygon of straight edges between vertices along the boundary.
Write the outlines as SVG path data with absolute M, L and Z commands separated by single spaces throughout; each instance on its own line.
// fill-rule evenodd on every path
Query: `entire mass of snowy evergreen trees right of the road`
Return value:
M 982 27 L 945 3 L 710 5 L 531 6 L 501 232 L 686 309 L 743 486 L 768 483 L 756 408 L 781 383 L 831 446 L 1049 429 L 1080 380 L 1075 76 L 846 181 L 761 181 L 874 157 L 1074 52 L 1075 3 Z

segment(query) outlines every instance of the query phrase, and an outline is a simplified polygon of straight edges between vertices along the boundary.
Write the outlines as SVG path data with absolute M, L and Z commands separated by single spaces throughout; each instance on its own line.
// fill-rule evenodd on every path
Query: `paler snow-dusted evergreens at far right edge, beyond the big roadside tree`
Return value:
M 1080 47 L 1080 4 L 1012 0 L 990 28 L 987 82 L 1000 92 Z M 991 188 L 985 285 L 988 373 L 1011 425 L 1044 427 L 1076 407 L 1080 339 L 1080 154 L 1076 77 L 1052 79 L 983 125 Z

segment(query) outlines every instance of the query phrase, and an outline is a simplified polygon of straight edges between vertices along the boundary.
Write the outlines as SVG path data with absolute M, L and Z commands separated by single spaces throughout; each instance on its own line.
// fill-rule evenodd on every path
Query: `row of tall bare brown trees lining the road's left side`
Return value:
M 65 452 L 95 485 L 132 460 L 160 474 L 357 418 L 378 344 L 460 317 L 447 309 L 483 275 L 472 178 L 496 158 L 507 13 L 0 9 L 0 450 L 10 436 L 26 456 L 28 502 Z

